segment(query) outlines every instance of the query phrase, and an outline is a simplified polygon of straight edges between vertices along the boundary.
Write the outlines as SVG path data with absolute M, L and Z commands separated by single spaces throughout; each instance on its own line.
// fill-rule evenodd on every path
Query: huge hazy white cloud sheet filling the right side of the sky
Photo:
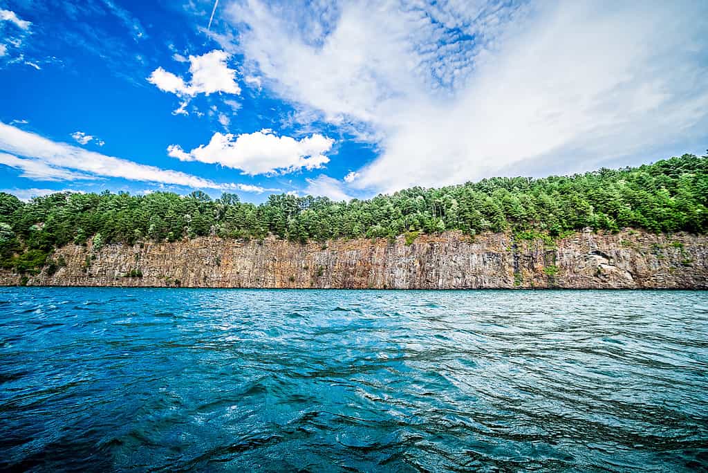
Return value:
M 357 188 L 631 164 L 707 137 L 706 2 L 238 0 L 224 11 L 244 74 L 377 143 Z

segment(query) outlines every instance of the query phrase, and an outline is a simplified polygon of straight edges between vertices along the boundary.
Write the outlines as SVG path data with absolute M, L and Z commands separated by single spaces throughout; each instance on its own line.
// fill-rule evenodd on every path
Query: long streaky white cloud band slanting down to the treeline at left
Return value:
M 191 188 L 236 188 L 234 183 L 220 184 L 180 171 L 160 169 L 127 159 L 97 152 L 25 132 L 0 122 L 0 164 L 22 169 L 23 176 L 45 181 L 123 178 Z M 16 156 L 15 156 L 16 155 Z M 18 156 L 23 156 L 20 158 Z

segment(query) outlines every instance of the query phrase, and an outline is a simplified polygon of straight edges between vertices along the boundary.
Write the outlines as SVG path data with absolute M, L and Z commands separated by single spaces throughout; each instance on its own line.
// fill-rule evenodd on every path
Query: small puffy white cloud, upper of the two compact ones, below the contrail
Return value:
M 199 93 L 210 95 L 217 92 L 238 95 L 241 93 L 241 88 L 236 84 L 236 71 L 229 69 L 228 58 L 227 52 L 218 50 L 201 56 L 190 56 L 191 79 L 188 83 L 162 67 L 155 69 L 147 80 L 161 91 L 182 97 L 193 97 Z

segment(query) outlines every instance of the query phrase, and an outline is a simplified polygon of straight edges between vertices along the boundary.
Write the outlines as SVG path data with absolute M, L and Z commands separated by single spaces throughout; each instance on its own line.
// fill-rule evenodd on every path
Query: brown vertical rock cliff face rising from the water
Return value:
M 54 270 L 0 285 L 333 287 L 353 289 L 708 288 L 708 236 L 578 232 L 555 242 L 511 234 L 421 235 L 297 244 L 203 237 L 64 246 Z

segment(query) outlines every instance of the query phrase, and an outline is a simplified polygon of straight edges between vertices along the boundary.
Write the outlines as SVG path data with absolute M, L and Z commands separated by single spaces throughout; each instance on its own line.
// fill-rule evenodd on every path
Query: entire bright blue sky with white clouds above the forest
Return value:
M 0 0 L 0 190 L 370 198 L 708 148 L 708 1 Z

